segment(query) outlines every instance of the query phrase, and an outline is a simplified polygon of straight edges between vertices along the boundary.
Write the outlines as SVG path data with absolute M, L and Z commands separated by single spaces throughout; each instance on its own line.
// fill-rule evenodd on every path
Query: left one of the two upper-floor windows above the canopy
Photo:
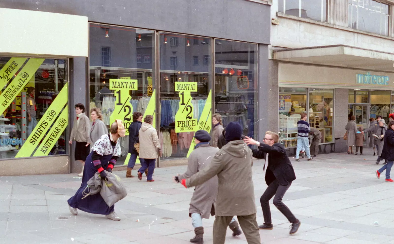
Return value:
M 327 0 L 279 0 L 279 12 L 327 22 Z

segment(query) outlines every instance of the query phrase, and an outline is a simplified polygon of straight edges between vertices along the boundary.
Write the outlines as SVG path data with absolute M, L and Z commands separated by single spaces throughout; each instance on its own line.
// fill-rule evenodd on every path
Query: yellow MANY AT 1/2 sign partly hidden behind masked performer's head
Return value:
M 138 80 L 131 80 L 128 77 L 121 79 L 110 79 L 110 89 L 115 90 L 115 109 L 110 116 L 110 123 L 115 119 L 121 119 L 125 125 L 126 136 L 129 134 L 128 127 L 133 117 L 133 109 L 130 104 L 130 90 L 138 89 Z

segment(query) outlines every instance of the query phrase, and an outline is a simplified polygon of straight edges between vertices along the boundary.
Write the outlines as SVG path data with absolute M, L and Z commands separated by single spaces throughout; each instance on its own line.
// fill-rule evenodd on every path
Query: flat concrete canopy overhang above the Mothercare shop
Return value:
M 274 50 L 273 59 L 288 63 L 394 72 L 394 53 L 346 45 Z

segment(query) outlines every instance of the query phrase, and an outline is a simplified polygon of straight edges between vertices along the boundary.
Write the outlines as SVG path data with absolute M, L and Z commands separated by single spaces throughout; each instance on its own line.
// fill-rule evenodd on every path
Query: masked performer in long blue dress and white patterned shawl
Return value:
M 111 125 L 110 134 L 102 135 L 93 145 L 93 151 L 85 161 L 81 186 L 67 201 L 72 215 L 77 215 L 79 209 L 91 214 L 104 214 L 111 220 L 121 220 L 114 211 L 115 205 L 109 207 L 100 194 L 88 195 L 85 189 L 97 171 L 103 180 L 108 180 L 106 171 L 112 172 L 118 156 L 122 155 L 119 138 L 125 136 L 125 132 L 123 122 L 116 119 Z

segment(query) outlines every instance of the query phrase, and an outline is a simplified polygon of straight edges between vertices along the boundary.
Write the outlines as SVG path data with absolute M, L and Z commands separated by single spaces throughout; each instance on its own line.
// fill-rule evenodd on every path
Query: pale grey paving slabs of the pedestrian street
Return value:
M 290 223 L 271 204 L 274 229 L 260 231 L 261 243 L 394 244 L 394 184 L 385 182 L 384 173 L 376 178 L 374 171 L 381 164 L 375 164 L 372 154 L 366 148 L 358 156 L 331 153 L 300 162 L 291 158 L 297 179 L 283 201 L 301 227 L 290 236 Z M 257 160 L 253 165 L 259 224 L 264 222 L 260 196 L 267 187 L 263 163 Z M 116 171 L 128 191 L 115 205 L 119 222 L 80 210 L 77 216 L 70 214 L 67 199 L 81 181 L 74 174 L 0 177 L 0 243 L 190 243 L 193 188 L 172 181 L 184 171 L 186 166 L 157 168 L 152 183 Z M 206 244 L 212 244 L 213 223 L 212 217 L 203 220 Z M 244 235 L 232 237 L 228 229 L 226 243 L 247 242 Z

